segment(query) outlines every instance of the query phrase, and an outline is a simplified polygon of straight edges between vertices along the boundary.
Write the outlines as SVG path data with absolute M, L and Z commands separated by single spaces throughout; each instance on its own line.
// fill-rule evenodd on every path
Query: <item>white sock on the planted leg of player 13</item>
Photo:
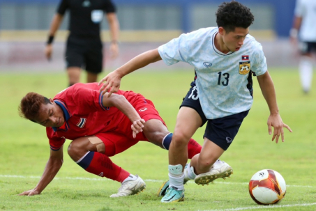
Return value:
M 169 165 L 169 187 L 175 187 L 178 190 L 183 190 L 183 180 L 184 180 L 184 173 L 182 172 L 182 165 Z

